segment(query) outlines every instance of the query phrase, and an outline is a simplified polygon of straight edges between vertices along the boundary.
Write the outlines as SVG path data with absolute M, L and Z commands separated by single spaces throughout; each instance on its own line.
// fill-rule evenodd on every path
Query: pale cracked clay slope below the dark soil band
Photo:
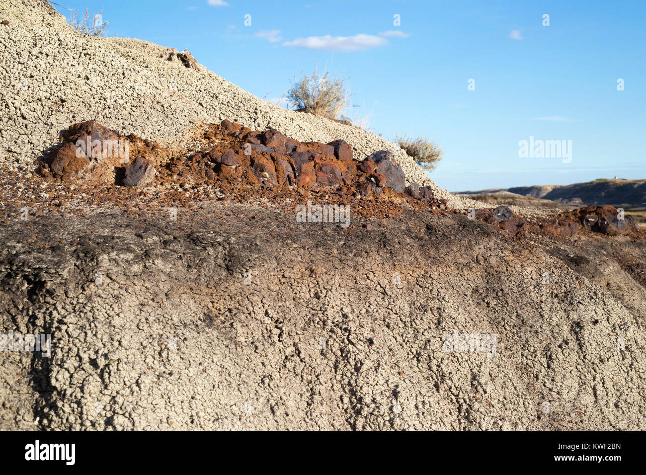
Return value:
M 207 220 L 191 224 L 199 239 L 142 234 L 121 214 L 54 216 L 34 232 L 96 235 L 19 257 L 24 233 L 7 225 L 5 328 L 56 343 L 49 359 L 0 352 L 0 429 L 644 427 L 643 326 L 561 260 L 466 216 L 429 218 L 425 265 L 428 240 L 392 227 L 376 251 L 253 213 L 268 228 Z M 47 282 L 47 304 L 23 308 L 27 278 Z M 443 351 L 455 331 L 499 335 L 495 357 Z

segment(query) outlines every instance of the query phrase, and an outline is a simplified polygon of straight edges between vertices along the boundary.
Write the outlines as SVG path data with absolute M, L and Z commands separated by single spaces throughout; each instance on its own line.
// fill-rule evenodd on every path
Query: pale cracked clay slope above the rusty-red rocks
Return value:
M 160 58 L 160 52 L 171 48 L 138 39 L 83 36 L 54 10 L 48 14 L 34 8 L 37 3 L 0 2 L 3 19 L 10 21 L 0 28 L 0 100 L 5 107 L 0 151 L 8 152 L 1 160 L 30 165 L 57 143 L 59 131 L 84 120 L 177 145 L 198 123 L 229 119 L 252 129 L 273 127 L 301 141 L 341 138 L 360 160 L 390 150 L 408 182 L 431 185 L 452 207 L 482 206 L 446 193 L 399 147 L 371 132 L 287 111 L 204 67 L 198 72 Z

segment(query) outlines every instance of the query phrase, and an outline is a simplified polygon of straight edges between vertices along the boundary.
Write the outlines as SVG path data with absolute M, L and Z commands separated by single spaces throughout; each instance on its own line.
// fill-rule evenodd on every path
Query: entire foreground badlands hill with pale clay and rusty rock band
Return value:
M 1 429 L 644 427 L 630 216 L 493 209 L 171 48 L 0 16 Z

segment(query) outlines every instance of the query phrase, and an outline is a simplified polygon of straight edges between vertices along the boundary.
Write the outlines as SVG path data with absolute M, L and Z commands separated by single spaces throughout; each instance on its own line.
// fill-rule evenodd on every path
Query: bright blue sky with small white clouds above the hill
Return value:
M 643 1 L 57 3 L 102 9 L 109 36 L 187 48 L 259 97 L 280 98 L 317 63 L 349 77 L 349 115 L 439 143 L 430 176 L 450 191 L 646 178 Z M 520 158 L 530 136 L 571 140 L 571 162 Z

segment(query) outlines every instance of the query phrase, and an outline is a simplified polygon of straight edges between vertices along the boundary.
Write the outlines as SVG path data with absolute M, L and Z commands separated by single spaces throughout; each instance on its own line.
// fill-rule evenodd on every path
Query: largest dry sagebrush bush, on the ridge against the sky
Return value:
M 319 76 L 316 68 L 311 76 L 301 73 L 300 79 L 294 76 L 287 101 L 295 109 L 336 119 L 349 107 L 352 94 L 345 85 L 347 79 L 329 76 L 328 72 Z

